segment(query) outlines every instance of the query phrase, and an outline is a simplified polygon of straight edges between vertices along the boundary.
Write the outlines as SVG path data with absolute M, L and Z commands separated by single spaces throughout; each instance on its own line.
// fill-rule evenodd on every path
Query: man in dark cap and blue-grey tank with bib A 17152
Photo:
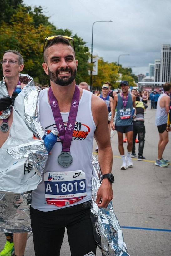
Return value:
M 128 93 L 129 84 L 128 81 L 123 80 L 120 83 L 122 92 L 114 96 L 113 110 L 111 118 L 111 128 L 116 130 L 118 134 L 118 147 L 119 153 L 122 158 L 121 170 L 126 170 L 128 167 L 132 167 L 133 163 L 131 160 L 131 150 L 133 146 L 133 118 L 132 109 L 135 108 L 135 95 Z M 116 122 L 113 123 L 116 110 Z M 123 133 L 127 137 L 127 155 L 125 156 L 123 148 Z

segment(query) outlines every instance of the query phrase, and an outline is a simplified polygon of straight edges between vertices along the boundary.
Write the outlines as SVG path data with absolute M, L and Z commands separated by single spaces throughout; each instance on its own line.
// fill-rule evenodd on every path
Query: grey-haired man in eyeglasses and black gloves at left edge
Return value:
M 15 50 L 5 51 L 3 59 L 0 61 L 3 69 L 3 80 L 0 81 L 0 148 L 9 136 L 9 129 L 13 122 L 13 106 L 18 93 L 16 86 L 21 85 L 21 89 L 26 85 L 19 78 L 20 72 L 24 68 L 22 55 Z M 24 78 L 25 81 L 27 78 Z M 27 76 L 27 75 L 26 75 Z M 15 255 L 23 256 L 27 242 L 27 232 L 5 233 L 7 241 L 0 256 L 11 255 L 15 247 Z

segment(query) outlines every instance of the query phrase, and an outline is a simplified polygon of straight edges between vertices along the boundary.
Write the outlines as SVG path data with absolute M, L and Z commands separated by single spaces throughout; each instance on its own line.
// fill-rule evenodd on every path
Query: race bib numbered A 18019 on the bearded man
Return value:
M 86 195 L 86 177 L 82 170 L 44 173 L 47 204 L 58 207 L 74 204 Z

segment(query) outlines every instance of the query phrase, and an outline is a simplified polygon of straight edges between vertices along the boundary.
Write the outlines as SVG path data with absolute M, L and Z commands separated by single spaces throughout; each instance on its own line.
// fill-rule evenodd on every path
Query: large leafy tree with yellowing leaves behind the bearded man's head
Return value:
M 7 1 L 6 8 L 9 7 L 10 2 Z M 18 5 L 16 3 L 17 7 L 13 15 L 9 16 L 8 12 L 5 12 L 6 19 L 0 24 L 0 55 L 2 56 L 8 49 L 17 49 L 24 58 L 23 72 L 33 78 L 37 77 L 39 83 L 44 85 L 49 82 L 42 68 L 44 38 L 48 35 L 71 36 L 72 32 L 68 29 L 57 29 L 49 22 L 49 17 L 43 14 L 42 7 L 34 7 L 32 10 L 30 6 L 20 4 L 21 2 L 18 1 Z M 76 57 L 79 60 L 77 80 L 80 82 L 87 80 L 89 52 L 82 38 L 75 35 L 74 41 Z

